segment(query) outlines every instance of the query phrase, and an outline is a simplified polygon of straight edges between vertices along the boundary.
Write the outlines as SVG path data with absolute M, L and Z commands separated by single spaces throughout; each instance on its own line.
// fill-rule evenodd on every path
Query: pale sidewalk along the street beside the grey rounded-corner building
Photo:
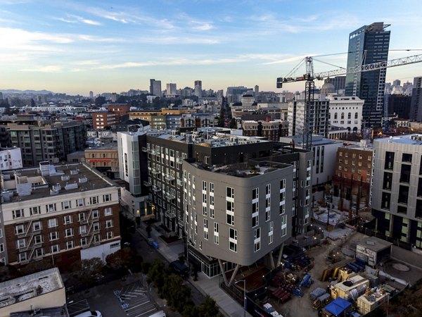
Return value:
M 146 230 L 142 230 L 141 228 L 136 228 L 136 230 L 144 238 L 148 238 Z M 159 236 L 160 233 L 152 228 L 151 237 L 155 240 L 155 242 L 158 242 L 158 251 L 160 254 L 169 262 L 179 259 L 179 254 L 184 252 L 183 242 L 174 242 L 171 245 L 167 245 L 160 239 Z M 198 280 L 194 281 L 193 278 L 189 276 L 188 281 L 203 295 L 210 295 L 210 297 L 215 300 L 219 306 L 220 311 L 225 316 L 243 317 L 243 307 L 219 287 L 218 277 L 208 278 L 207 275 L 201 272 L 198 273 Z M 245 316 L 251 317 L 250 313 L 248 312 L 246 312 Z

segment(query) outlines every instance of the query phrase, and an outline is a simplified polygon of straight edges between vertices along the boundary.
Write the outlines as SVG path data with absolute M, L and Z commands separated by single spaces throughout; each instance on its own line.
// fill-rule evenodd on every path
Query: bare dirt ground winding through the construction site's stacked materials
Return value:
M 307 250 L 306 254 L 309 257 L 314 258 L 314 268 L 309 271 L 314 284 L 310 288 L 302 287 L 302 292 L 304 292 L 304 297 L 295 297 L 292 296 L 285 304 L 278 304 L 277 302 L 270 303 L 274 306 L 276 311 L 281 313 L 283 317 L 297 317 L 297 316 L 318 316 L 316 310 L 312 309 L 312 301 L 309 299 L 309 293 L 312 292 L 316 287 L 327 287 L 328 282 L 321 282 L 319 279 L 323 271 L 327 268 L 326 256 L 329 251 L 336 248 L 345 248 L 345 249 L 354 249 L 356 247 L 356 241 L 362 237 L 359 233 L 352 233 L 350 237 L 347 238 L 347 242 L 342 246 L 342 241 L 330 241 L 329 244 L 321 244 L 319 246 L 313 247 L 312 249 Z M 305 275 L 304 272 L 298 274 L 300 278 L 303 278 Z

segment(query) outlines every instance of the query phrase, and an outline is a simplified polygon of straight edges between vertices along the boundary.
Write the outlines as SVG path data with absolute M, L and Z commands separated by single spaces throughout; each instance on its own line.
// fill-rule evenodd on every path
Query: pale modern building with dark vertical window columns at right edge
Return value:
M 387 240 L 422 249 L 422 135 L 373 142 L 371 207 Z

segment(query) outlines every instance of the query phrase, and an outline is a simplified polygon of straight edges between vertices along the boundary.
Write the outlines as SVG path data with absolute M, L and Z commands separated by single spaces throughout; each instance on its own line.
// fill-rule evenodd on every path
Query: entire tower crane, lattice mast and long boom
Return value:
M 312 131 L 309 128 L 310 109 L 314 101 L 315 83 L 314 80 L 324 80 L 326 77 L 347 75 L 350 73 L 364 73 L 373 70 L 380 70 L 384 68 L 404 66 L 413 63 L 422 62 L 422 54 L 407 56 L 404 58 L 395 58 L 390 61 L 381 61 L 378 63 L 371 63 L 350 68 L 340 68 L 338 70 L 328 70 L 322 73 L 314 73 L 314 62 L 312 56 L 307 56 L 304 59 L 306 63 L 306 73 L 301 77 L 279 77 L 277 78 L 277 88 L 283 87 L 283 84 L 289 82 L 303 82 L 305 81 L 305 122 L 303 130 L 303 148 L 312 149 Z M 303 61 L 300 63 L 300 65 Z M 290 72 L 292 73 L 292 72 Z M 289 74 L 290 74 L 289 73 Z

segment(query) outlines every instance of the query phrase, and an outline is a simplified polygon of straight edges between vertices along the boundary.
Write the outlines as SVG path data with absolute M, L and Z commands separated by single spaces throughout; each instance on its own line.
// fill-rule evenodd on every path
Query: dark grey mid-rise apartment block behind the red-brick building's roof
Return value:
M 37 166 L 41 161 L 58 163 L 75 151 L 83 151 L 87 142 L 87 126 L 78 121 L 51 125 L 8 123 L 11 145 L 22 151 L 23 166 Z

